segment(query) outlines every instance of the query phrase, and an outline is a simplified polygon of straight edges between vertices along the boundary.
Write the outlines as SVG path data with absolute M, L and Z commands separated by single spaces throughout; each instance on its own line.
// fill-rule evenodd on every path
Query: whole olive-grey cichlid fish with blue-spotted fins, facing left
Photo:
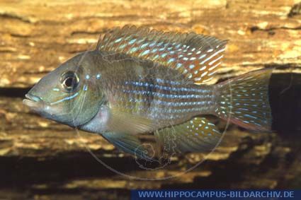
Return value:
M 23 100 L 31 110 L 117 148 L 143 154 L 137 134 L 154 133 L 178 153 L 212 149 L 222 134 L 212 114 L 255 131 L 271 129 L 268 82 L 260 69 L 215 85 L 226 40 L 195 33 L 163 33 L 125 26 L 100 37 L 93 51 L 69 59 L 43 77 Z

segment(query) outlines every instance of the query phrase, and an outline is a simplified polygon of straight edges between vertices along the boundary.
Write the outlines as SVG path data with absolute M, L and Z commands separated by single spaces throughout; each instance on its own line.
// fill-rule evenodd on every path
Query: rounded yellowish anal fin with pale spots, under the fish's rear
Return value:
M 195 117 L 188 122 L 155 132 L 157 141 L 168 152 L 212 151 L 222 134 L 215 124 L 204 117 Z

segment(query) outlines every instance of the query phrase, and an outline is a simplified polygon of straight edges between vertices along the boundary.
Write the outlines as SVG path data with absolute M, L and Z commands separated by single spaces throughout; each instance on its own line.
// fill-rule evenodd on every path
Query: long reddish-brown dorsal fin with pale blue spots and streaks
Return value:
M 101 35 L 96 49 L 148 59 L 204 83 L 220 66 L 227 40 L 196 33 L 163 33 L 126 25 Z

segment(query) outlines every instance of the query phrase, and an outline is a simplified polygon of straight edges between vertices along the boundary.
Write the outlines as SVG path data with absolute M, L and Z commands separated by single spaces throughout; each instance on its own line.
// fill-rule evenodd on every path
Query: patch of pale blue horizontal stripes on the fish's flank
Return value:
M 169 81 L 161 78 L 155 78 L 153 81 L 125 81 L 126 86 L 123 92 L 127 93 L 130 98 L 127 98 L 130 102 L 127 106 L 137 110 L 137 105 L 141 104 L 141 110 L 147 110 L 146 113 L 155 119 L 181 119 L 186 118 L 187 114 L 208 110 L 208 107 L 214 104 L 211 100 L 212 92 L 207 88 L 185 88 L 181 87 L 183 81 Z M 187 93 L 188 90 L 191 92 L 200 90 L 202 95 Z

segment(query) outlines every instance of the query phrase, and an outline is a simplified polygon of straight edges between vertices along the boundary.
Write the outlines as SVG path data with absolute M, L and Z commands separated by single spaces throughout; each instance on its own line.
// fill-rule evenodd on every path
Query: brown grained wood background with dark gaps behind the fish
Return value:
M 235 125 L 203 159 L 143 170 L 101 136 L 29 112 L 25 93 L 59 64 L 96 47 L 116 26 L 147 26 L 229 40 L 215 81 L 276 67 L 271 133 Z M 0 1 L 0 199 L 129 199 L 130 189 L 301 189 L 301 2 L 293 0 Z

